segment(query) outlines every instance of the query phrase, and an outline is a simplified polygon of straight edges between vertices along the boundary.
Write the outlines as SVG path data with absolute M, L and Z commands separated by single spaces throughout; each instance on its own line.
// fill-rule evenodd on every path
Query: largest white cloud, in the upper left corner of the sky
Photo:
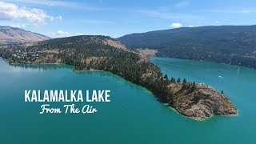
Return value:
M 22 18 L 37 26 L 45 24 L 46 18 L 52 20 L 52 17 L 46 14 L 44 10 L 0 2 L 0 20 L 16 20 Z

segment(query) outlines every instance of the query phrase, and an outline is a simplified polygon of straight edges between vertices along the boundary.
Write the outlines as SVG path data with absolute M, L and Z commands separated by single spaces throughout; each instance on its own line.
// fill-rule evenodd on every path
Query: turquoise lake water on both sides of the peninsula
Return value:
M 107 72 L 74 73 L 66 65 L 10 66 L 0 59 L 0 143 L 256 142 L 256 70 L 174 58 L 152 62 L 169 77 L 224 90 L 239 115 L 197 122 L 163 106 L 148 90 Z M 95 114 L 39 114 L 43 103 L 24 102 L 24 90 L 111 90 L 111 102 L 90 102 L 98 109 Z

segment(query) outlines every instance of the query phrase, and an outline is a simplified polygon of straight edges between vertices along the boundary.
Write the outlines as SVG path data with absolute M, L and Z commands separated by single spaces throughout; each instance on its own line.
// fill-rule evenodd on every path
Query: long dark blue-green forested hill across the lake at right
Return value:
M 132 50 L 158 50 L 158 56 L 256 68 L 256 25 L 200 26 L 128 34 L 116 39 Z

